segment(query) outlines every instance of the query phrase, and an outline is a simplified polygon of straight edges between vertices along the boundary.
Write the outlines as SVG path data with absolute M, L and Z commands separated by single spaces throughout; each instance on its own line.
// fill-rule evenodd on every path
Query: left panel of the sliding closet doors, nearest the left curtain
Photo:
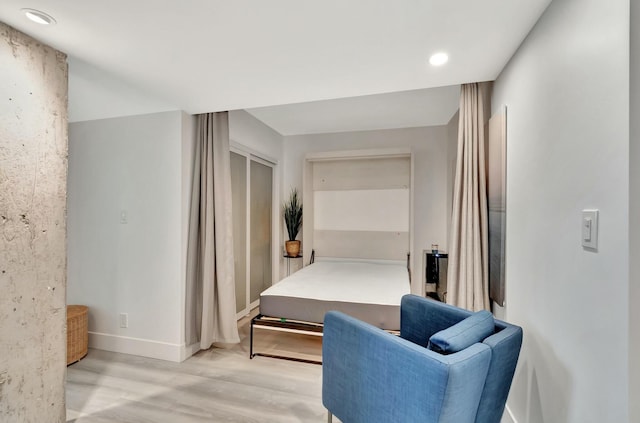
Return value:
M 231 203 L 236 313 L 241 313 L 247 308 L 247 158 L 234 152 L 231 152 Z

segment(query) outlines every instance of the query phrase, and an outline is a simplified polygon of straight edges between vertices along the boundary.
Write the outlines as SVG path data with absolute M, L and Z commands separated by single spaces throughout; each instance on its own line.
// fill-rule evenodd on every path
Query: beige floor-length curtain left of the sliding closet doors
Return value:
M 237 343 L 227 112 L 196 116 L 187 253 L 187 345 Z

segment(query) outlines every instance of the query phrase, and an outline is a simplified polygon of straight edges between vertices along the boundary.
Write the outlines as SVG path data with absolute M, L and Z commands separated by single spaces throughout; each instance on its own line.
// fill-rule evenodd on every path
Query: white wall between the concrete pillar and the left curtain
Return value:
M 68 303 L 89 306 L 92 347 L 183 355 L 187 122 L 175 111 L 70 125 Z

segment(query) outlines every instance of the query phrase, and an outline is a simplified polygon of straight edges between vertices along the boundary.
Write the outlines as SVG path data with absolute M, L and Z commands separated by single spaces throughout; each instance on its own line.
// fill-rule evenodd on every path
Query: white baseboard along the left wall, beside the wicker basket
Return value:
M 200 349 L 199 344 L 186 346 L 98 332 L 89 332 L 89 347 L 174 362 L 184 361 Z

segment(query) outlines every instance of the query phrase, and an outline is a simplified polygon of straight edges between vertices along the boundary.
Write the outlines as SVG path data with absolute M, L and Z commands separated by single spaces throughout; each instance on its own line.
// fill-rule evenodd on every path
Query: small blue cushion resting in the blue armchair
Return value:
M 440 354 L 452 354 L 482 342 L 495 330 L 493 315 L 486 310 L 473 313 L 459 323 L 436 332 L 429 338 L 427 348 Z

